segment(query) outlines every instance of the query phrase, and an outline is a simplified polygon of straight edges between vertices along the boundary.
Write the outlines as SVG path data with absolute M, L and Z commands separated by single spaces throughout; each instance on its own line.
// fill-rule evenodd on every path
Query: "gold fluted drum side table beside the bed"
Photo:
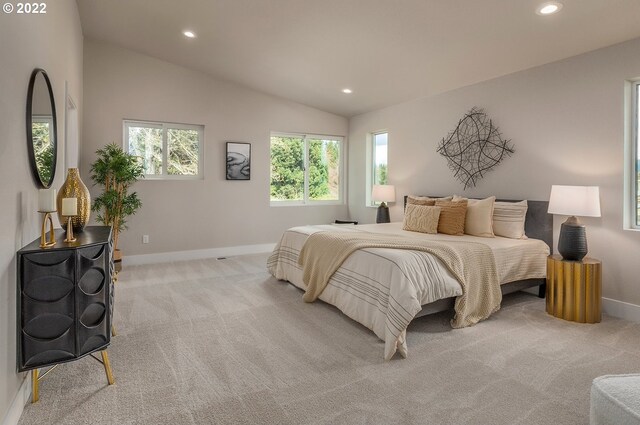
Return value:
M 599 323 L 602 319 L 602 263 L 594 258 L 547 258 L 547 313 L 564 320 Z

